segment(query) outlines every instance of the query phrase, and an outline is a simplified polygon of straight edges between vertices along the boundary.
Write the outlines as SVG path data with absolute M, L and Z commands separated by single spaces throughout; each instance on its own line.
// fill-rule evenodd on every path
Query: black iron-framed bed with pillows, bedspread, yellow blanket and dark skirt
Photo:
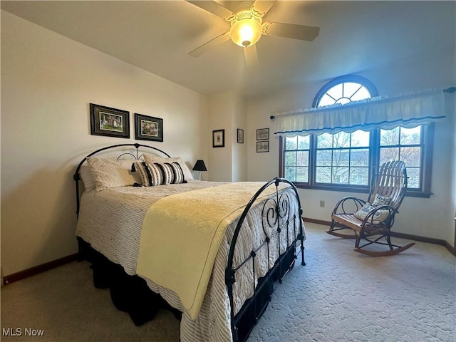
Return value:
M 109 287 L 137 325 L 169 308 L 182 342 L 245 341 L 299 250 L 305 265 L 288 180 L 194 180 L 182 158 L 141 144 L 95 150 L 73 178 L 76 236 L 95 286 Z M 207 222 L 214 229 L 201 229 Z

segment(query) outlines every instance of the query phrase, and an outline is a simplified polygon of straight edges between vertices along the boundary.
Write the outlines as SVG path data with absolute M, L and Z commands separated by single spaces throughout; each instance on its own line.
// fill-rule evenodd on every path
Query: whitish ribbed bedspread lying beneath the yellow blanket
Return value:
M 197 190 L 202 187 L 214 187 L 223 182 L 199 182 L 192 180 L 187 184 L 162 185 L 160 187 L 115 187 L 100 192 L 85 192 L 81 197 L 81 209 L 78 218 L 76 235 L 83 238 L 94 249 L 108 257 L 110 261 L 120 264 L 125 272 L 130 275 L 136 274 L 138 252 L 140 245 L 140 232 L 142 221 L 151 204 L 167 195 L 178 192 Z M 290 197 L 294 197 L 291 189 Z M 268 205 L 271 205 L 269 203 Z M 296 212 L 296 203 L 292 202 L 291 210 Z M 252 246 L 257 246 L 263 238 L 261 228 L 261 209 L 251 210 L 247 219 L 244 220 L 243 229 L 239 235 L 238 245 L 234 260 L 239 262 L 244 259 Z M 299 218 L 298 218 L 299 219 Z M 157 286 L 150 279 L 145 279 L 147 285 L 173 307 L 183 312 L 181 321 L 180 339 L 187 341 L 232 341 L 230 326 L 230 306 L 226 285 L 224 284 L 224 271 L 227 264 L 229 240 L 232 237 L 238 219 L 234 220 L 227 228 L 222 239 L 217 257 L 214 262 L 211 279 L 207 286 L 199 315 L 195 320 L 182 308 L 177 295 L 162 286 Z M 290 225 L 292 227 L 292 225 Z M 299 222 L 296 222 L 299 227 Z M 266 257 L 256 258 L 256 276 L 266 274 L 269 267 L 280 253 L 294 240 L 298 232 L 289 229 L 289 241 L 286 240 L 286 231 L 281 232 L 281 246 L 272 248 L 269 262 Z M 274 241 L 274 240 L 273 240 Z M 239 242 L 242 242 L 239 244 Z M 273 243 L 276 246 L 278 243 Z M 259 252 L 265 253 L 264 251 Z M 247 263 L 249 264 L 249 263 Z M 252 264 L 239 269 L 237 282 L 234 284 L 234 312 L 237 313 L 246 299 L 252 296 L 254 285 L 252 281 Z

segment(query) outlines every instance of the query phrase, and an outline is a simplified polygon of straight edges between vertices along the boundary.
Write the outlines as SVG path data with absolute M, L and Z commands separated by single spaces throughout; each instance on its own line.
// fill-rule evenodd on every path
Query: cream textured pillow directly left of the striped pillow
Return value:
M 88 157 L 87 164 L 95 180 L 97 191 L 110 187 L 128 187 L 141 182 L 138 172 L 131 171 L 133 159 L 104 159 Z

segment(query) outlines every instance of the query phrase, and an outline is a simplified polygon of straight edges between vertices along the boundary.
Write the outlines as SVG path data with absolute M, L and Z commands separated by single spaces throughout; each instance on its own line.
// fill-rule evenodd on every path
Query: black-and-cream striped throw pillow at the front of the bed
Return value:
M 145 187 L 187 182 L 178 162 L 155 162 L 153 164 L 135 162 L 134 165 L 141 177 L 142 185 Z

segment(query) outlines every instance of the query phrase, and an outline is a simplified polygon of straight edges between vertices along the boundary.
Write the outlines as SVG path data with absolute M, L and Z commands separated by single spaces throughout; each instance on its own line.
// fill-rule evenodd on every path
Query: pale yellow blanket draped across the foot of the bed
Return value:
M 142 223 L 137 273 L 175 291 L 196 318 L 225 229 L 263 185 L 229 183 L 167 196 L 152 204 Z M 275 189 L 268 187 L 260 198 Z

